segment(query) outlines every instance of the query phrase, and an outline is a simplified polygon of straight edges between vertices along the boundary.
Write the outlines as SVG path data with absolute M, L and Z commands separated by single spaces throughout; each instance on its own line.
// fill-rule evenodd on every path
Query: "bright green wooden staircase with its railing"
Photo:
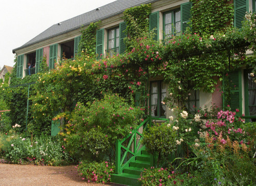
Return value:
M 152 120 L 168 121 L 168 119 L 149 116 L 131 134 L 122 140 L 117 139 L 116 172 L 111 176 L 112 182 L 123 185 L 141 185 L 138 181 L 141 172 L 155 165 L 156 158 L 152 154 L 148 154 L 141 144 L 143 132 L 152 125 Z

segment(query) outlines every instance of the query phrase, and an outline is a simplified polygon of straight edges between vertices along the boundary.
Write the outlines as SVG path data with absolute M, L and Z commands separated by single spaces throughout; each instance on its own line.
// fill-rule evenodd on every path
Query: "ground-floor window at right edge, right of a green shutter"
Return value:
M 256 83 L 250 75 L 251 70 L 244 71 L 244 95 L 245 95 L 245 117 L 246 122 L 256 121 Z M 252 119 L 249 117 L 254 116 Z

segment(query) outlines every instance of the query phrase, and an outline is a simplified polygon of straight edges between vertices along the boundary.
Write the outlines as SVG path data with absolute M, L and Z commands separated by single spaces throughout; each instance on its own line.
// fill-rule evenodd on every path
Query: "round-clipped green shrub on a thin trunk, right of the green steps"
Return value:
M 158 153 L 160 159 L 172 154 L 176 150 L 176 132 L 166 124 L 154 125 L 144 133 L 142 144 L 149 153 Z

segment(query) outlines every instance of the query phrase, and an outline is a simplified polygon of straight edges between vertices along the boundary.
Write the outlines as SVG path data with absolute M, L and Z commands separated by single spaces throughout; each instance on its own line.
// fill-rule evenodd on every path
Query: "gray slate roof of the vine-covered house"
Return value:
M 40 41 L 44 41 L 46 39 L 50 39 L 52 37 L 79 29 L 82 25 L 87 26 L 90 22 L 96 22 L 98 20 L 103 20 L 117 14 L 122 13 L 125 9 L 135 7 L 141 4 L 153 3 L 159 0 L 118 0 L 108 5 L 104 5 L 99 7 L 99 10 L 92 10 L 90 12 L 78 15 L 71 19 L 62 21 L 61 24 L 55 24 L 51 26 L 49 29 L 40 33 L 38 36 L 34 37 L 24 45 L 19 48 L 13 49 L 13 53 L 15 53 L 18 49 L 23 49 L 28 47 L 29 45 L 35 44 Z

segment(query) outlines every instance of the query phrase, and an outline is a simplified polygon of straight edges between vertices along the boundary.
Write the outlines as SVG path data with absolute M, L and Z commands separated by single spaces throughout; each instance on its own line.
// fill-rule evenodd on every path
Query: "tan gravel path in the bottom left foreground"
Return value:
M 90 185 L 79 177 L 75 166 L 50 167 L 0 164 L 0 185 Z M 117 184 L 108 184 L 117 185 Z

